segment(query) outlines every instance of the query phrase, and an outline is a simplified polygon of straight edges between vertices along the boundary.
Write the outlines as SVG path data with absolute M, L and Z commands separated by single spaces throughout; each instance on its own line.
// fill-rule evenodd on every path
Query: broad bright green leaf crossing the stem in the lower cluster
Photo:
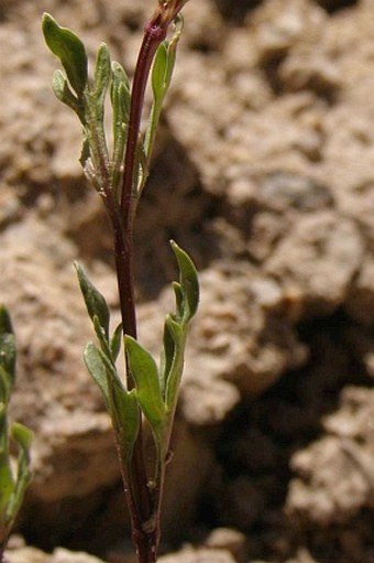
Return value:
M 157 366 L 148 351 L 134 338 L 124 337 L 131 376 L 135 380 L 136 396 L 151 427 L 156 431 L 165 422 L 166 409 L 162 398 Z

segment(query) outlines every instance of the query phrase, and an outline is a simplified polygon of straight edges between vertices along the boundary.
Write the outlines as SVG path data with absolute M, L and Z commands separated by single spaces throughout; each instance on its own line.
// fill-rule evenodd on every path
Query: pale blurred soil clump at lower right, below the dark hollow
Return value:
M 373 390 L 348 387 L 340 409 L 327 416 L 327 435 L 297 452 L 290 463 L 288 510 L 319 524 L 346 522 L 374 502 Z

